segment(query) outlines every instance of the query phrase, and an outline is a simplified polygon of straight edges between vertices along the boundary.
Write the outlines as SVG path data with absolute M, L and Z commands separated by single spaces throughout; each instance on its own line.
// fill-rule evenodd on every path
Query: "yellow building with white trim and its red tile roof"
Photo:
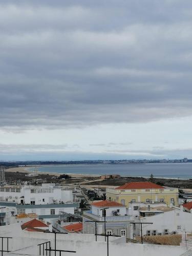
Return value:
M 132 202 L 164 202 L 179 205 L 179 189 L 163 187 L 152 182 L 131 182 L 116 188 L 106 188 L 107 200 L 129 206 Z

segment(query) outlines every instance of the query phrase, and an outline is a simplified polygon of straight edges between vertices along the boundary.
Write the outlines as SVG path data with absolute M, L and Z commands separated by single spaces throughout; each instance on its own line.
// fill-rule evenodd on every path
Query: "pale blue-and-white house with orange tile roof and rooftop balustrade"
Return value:
M 104 210 L 103 208 L 108 209 Z M 83 233 L 95 234 L 95 222 L 89 221 L 98 221 L 97 233 L 104 233 L 104 219 L 106 221 L 106 234 L 130 238 L 131 217 L 126 215 L 126 206 L 112 201 L 93 203 L 92 210 L 83 212 Z

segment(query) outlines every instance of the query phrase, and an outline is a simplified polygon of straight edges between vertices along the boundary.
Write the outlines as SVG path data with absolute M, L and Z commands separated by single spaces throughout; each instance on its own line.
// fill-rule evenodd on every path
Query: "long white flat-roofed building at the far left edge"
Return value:
M 3 186 L 0 187 L 0 201 L 18 204 L 52 204 L 73 202 L 73 189 L 55 184 L 41 186 Z

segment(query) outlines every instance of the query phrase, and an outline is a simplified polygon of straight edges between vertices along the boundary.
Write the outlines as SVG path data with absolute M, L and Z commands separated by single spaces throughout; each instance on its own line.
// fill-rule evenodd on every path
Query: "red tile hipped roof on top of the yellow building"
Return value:
M 116 187 L 115 189 L 145 189 L 145 188 L 150 189 L 150 188 L 164 188 L 164 187 L 149 181 L 144 181 L 144 182 L 126 183 L 120 187 Z

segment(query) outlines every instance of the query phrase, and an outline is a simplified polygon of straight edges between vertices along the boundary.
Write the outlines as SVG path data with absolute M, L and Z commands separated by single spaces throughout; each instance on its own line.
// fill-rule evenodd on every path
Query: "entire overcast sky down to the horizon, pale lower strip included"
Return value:
M 0 2 L 0 160 L 192 158 L 191 0 Z

